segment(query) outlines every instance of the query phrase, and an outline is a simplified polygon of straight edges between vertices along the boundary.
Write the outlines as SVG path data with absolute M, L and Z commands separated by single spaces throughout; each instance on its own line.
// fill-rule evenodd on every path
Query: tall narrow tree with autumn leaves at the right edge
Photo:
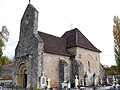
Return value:
M 120 72 L 120 19 L 114 16 L 113 36 L 114 36 L 114 52 L 117 65 L 117 71 Z

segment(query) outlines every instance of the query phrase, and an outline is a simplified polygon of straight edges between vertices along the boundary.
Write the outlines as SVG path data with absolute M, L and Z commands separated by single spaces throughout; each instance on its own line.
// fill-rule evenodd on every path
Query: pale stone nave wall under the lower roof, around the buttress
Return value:
M 47 78 L 51 79 L 51 86 L 58 87 L 60 84 L 59 74 L 59 62 L 63 60 L 68 64 L 68 77 L 67 79 L 70 80 L 70 73 L 71 73 L 71 61 L 67 56 L 55 55 L 50 53 L 44 53 L 44 61 L 43 61 L 43 72 Z M 64 68 L 64 67 L 63 67 Z

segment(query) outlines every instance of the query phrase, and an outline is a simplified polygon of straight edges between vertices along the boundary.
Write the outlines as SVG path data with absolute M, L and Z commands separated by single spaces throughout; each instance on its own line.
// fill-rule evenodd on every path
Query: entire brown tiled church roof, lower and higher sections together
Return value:
M 47 53 L 69 56 L 67 48 L 71 47 L 101 52 L 77 28 L 65 32 L 61 38 L 40 31 L 38 34 L 44 42 L 44 51 Z

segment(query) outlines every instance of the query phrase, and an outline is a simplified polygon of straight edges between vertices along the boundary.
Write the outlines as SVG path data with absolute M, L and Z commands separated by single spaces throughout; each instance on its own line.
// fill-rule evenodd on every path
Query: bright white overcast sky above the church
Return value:
M 4 55 L 14 57 L 20 20 L 29 0 L 0 0 L 0 28 L 10 32 Z M 78 28 L 99 50 L 103 65 L 115 65 L 113 17 L 120 16 L 120 0 L 31 0 L 39 12 L 38 31 L 61 37 Z

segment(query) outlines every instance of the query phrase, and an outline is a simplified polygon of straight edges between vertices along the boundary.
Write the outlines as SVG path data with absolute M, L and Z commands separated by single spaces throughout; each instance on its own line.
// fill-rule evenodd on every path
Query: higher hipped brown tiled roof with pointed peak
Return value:
M 66 47 L 81 47 L 88 50 L 101 52 L 77 28 L 67 31 L 62 36 L 66 40 Z

